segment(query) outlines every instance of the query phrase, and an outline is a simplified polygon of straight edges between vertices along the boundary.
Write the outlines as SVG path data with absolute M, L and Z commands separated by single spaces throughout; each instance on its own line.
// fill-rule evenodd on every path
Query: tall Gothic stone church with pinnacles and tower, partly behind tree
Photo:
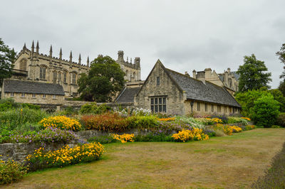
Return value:
M 79 54 L 78 63 L 73 62 L 72 52 L 69 60 L 62 58 L 62 50 L 59 52 L 59 58 L 53 56 L 52 46 L 49 55 L 39 53 L 39 45 L 34 43 L 31 50 L 26 48 L 26 44 L 19 53 L 14 63 L 13 76 L 9 80 L 22 80 L 32 82 L 43 82 L 50 84 L 58 84 L 63 87 L 65 97 L 78 96 L 78 78 L 81 73 L 88 73 L 90 69 L 89 57 L 86 65 L 81 63 L 81 55 Z M 124 60 L 122 50 L 118 51 L 118 64 L 125 72 L 126 82 L 136 85 L 140 82 L 140 58 L 135 58 L 134 63 Z

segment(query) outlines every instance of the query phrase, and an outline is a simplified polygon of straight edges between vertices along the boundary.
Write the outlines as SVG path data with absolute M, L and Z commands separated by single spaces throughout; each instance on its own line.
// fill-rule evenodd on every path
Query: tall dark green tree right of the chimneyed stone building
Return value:
M 254 54 L 244 56 L 244 65 L 239 66 L 237 73 L 239 77 L 239 92 L 248 90 L 258 90 L 261 87 L 270 88 L 271 72 L 266 72 L 268 69 L 261 60 L 257 60 Z

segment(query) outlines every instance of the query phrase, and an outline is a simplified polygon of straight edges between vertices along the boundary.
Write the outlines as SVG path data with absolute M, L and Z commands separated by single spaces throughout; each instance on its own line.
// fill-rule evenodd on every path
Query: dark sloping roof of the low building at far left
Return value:
M 22 80 L 4 80 L 4 92 L 34 93 L 46 95 L 64 95 L 63 86 L 45 82 Z

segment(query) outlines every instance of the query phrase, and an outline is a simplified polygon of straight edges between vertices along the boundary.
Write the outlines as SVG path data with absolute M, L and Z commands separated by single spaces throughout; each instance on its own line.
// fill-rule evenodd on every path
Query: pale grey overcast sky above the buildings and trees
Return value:
M 184 73 L 237 70 L 254 53 L 279 85 L 283 65 L 275 55 L 285 43 L 284 0 L 1 1 L 0 38 L 21 50 L 39 41 L 40 53 L 63 49 L 68 59 L 98 54 L 141 58 L 142 80 L 159 58 Z

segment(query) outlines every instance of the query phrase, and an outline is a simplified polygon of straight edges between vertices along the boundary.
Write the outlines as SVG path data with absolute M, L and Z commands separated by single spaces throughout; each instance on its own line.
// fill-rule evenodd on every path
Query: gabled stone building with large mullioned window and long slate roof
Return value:
M 135 95 L 134 104 L 167 114 L 235 114 L 241 108 L 225 87 L 167 69 L 160 60 Z

